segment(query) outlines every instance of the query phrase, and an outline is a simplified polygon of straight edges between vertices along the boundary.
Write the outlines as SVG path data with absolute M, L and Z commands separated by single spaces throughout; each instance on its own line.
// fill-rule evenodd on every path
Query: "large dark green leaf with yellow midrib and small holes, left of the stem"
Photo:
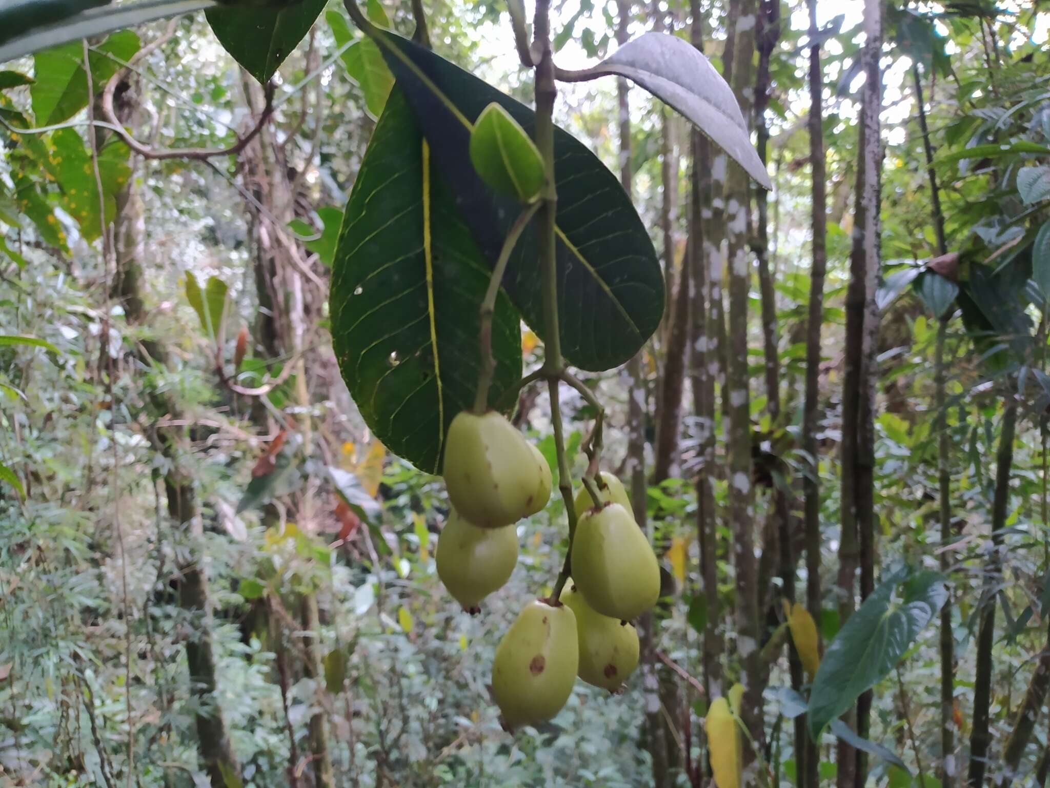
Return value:
M 445 431 L 474 403 L 489 267 L 395 89 L 346 203 L 332 267 L 332 344 L 365 423 L 437 472 Z M 489 401 L 521 375 L 518 311 L 497 298 Z M 353 504 L 353 501 L 348 501 Z

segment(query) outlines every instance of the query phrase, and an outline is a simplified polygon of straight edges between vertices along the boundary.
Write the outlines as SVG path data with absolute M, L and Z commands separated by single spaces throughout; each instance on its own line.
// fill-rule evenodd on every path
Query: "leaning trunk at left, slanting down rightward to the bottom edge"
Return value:
M 101 86 L 100 86 L 101 87 Z M 125 105 L 132 108 L 133 91 L 124 94 Z M 127 120 L 121 118 L 122 122 Z M 112 295 L 124 307 L 125 319 L 131 326 L 141 326 L 148 318 L 143 282 L 146 243 L 146 225 L 142 198 L 138 193 L 134 175 L 117 195 L 113 216 L 116 240 Z M 144 362 L 165 367 L 169 352 L 162 340 L 142 343 Z M 168 390 L 150 389 L 146 400 L 154 419 L 167 422 L 182 420 L 180 402 Z M 184 428 L 155 427 L 151 431 L 154 448 L 167 463 L 163 481 L 167 498 L 168 516 L 185 531 L 194 549 L 187 555 L 178 552 L 177 600 L 178 606 L 194 623 L 193 631 L 186 639 L 186 663 L 189 668 L 189 691 L 193 700 L 193 721 L 197 734 L 197 753 L 213 788 L 225 788 L 230 781 L 239 780 L 240 767 L 226 731 L 223 709 L 217 698 L 215 650 L 212 640 L 211 605 L 208 578 L 201 563 L 203 531 L 200 502 L 196 498 L 194 477 L 183 461 L 186 451 Z M 159 582 L 164 578 L 159 578 Z

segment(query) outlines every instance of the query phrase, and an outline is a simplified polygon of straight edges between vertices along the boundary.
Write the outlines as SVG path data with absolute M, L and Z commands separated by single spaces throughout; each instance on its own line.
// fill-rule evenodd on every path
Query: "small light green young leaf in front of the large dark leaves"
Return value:
M 543 159 L 536 143 L 496 102 L 485 107 L 470 132 L 470 161 L 486 185 L 521 203 L 543 188 Z

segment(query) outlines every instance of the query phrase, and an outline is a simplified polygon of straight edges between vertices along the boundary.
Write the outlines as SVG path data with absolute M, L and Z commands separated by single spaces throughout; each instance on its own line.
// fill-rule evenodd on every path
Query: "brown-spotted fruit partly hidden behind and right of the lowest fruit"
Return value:
M 580 678 L 615 692 L 638 666 L 638 633 L 633 624 L 595 613 L 569 578 L 562 603 L 576 616 Z

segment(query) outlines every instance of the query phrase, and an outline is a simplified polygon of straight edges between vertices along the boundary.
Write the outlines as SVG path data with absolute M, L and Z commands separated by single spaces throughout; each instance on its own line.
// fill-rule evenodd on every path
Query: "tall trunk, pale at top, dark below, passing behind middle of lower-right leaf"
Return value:
M 879 379 L 879 307 L 876 293 L 881 279 L 881 174 L 882 136 L 879 115 L 882 108 L 882 72 L 879 55 L 882 47 L 882 5 L 879 0 L 864 2 L 863 61 L 864 103 L 864 331 L 861 338 L 860 412 L 857 423 L 856 456 L 856 518 L 860 548 L 860 598 L 863 601 L 875 590 L 875 412 L 876 388 Z M 870 726 L 873 691 L 863 692 L 857 703 L 857 733 L 866 739 Z M 864 788 L 867 780 L 867 752 L 857 750 L 854 785 Z

